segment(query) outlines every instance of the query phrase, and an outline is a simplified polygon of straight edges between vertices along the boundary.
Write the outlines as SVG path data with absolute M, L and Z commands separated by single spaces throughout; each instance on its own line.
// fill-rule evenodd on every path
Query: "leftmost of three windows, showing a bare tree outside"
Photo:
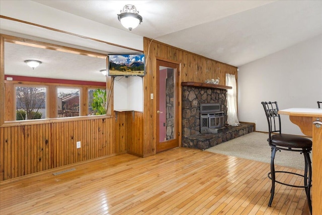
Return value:
M 16 87 L 16 120 L 46 118 L 46 88 Z

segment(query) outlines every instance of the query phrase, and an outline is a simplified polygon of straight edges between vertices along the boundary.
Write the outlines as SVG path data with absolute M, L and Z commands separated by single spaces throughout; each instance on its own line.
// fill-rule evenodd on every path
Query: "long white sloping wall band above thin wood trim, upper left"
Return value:
M 81 4 L 81 2 L 75 4 Z M 37 2 L 0 1 L 0 14 L 26 22 L 143 50 L 143 37 L 139 35 L 69 14 Z M 23 29 L 20 30 L 22 31 Z M 51 33 L 55 34 L 55 32 Z M 28 35 L 28 33 L 26 34 Z M 109 52 L 110 50 L 106 51 Z

